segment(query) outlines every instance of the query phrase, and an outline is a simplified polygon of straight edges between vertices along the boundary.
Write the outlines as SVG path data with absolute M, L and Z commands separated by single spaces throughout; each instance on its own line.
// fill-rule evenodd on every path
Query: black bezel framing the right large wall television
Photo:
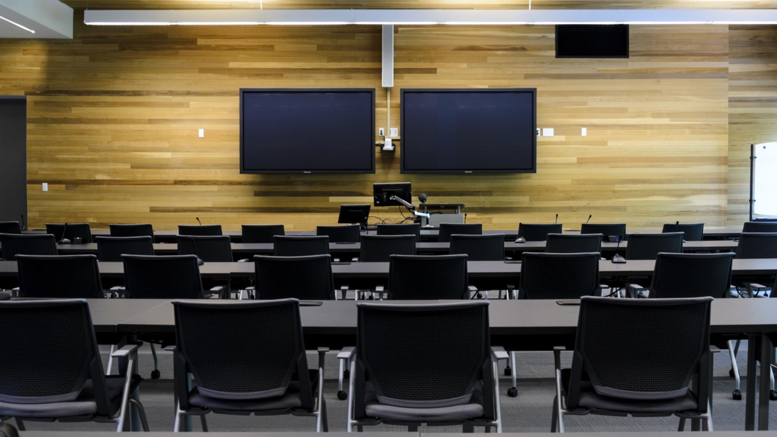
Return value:
M 405 125 L 405 93 L 531 93 L 533 132 L 537 131 L 537 89 L 536 88 L 402 88 L 399 90 L 399 128 Z M 405 135 L 400 132 L 399 138 Z M 407 170 L 405 168 L 406 144 L 400 140 L 399 173 L 406 174 L 522 174 L 537 173 L 537 135 L 531 135 L 531 169 L 448 169 L 448 170 Z

